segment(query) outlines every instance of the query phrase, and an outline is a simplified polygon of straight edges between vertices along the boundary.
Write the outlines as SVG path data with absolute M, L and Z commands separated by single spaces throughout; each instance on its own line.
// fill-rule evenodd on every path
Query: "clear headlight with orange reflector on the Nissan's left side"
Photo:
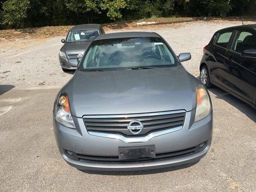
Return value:
M 75 128 L 73 118 L 70 112 L 68 94 L 62 93 L 58 99 L 56 109 L 56 120 L 65 127 Z

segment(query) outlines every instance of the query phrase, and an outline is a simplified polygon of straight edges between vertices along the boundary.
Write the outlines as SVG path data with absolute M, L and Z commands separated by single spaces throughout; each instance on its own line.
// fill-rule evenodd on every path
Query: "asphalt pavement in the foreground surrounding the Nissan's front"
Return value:
M 66 164 L 52 128 L 59 87 L 11 88 L 0 95 L 0 191 L 256 191 L 255 110 L 219 88 L 210 89 L 214 132 L 204 158 L 133 172 L 82 172 Z

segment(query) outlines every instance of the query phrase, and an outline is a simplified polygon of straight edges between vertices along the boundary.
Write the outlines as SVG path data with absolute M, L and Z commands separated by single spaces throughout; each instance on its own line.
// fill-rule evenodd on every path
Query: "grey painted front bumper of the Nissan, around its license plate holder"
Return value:
M 53 120 L 54 134 L 60 153 L 64 160 L 79 169 L 88 170 L 146 170 L 177 166 L 200 160 L 210 148 L 212 140 L 212 113 L 194 122 L 195 110 L 186 112 L 184 126 L 181 130 L 156 136 L 148 142 L 124 143 L 118 139 L 92 136 L 88 134 L 82 118 L 73 117 L 76 129 L 66 128 Z M 204 149 L 186 156 L 173 158 L 136 161 L 136 162 L 102 162 L 102 161 L 79 161 L 69 158 L 66 150 L 77 154 L 89 156 L 118 156 L 118 147 L 155 145 L 156 154 L 176 152 L 198 146 L 207 142 Z

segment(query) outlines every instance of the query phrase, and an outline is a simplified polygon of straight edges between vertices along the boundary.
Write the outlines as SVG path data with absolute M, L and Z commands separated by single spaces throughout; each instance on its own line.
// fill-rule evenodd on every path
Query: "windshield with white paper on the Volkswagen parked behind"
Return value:
M 89 30 L 76 30 L 70 31 L 67 37 L 67 43 L 72 42 L 86 42 L 93 40 L 100 33 L 97 29 L 89 29 Z

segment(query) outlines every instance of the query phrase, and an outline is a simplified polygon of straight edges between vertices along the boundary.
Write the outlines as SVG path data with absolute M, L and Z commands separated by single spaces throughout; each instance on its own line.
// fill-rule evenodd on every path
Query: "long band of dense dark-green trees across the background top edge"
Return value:
M 254 15 L 256 0 L 0 0 L 0 28 L 168 16 Z

